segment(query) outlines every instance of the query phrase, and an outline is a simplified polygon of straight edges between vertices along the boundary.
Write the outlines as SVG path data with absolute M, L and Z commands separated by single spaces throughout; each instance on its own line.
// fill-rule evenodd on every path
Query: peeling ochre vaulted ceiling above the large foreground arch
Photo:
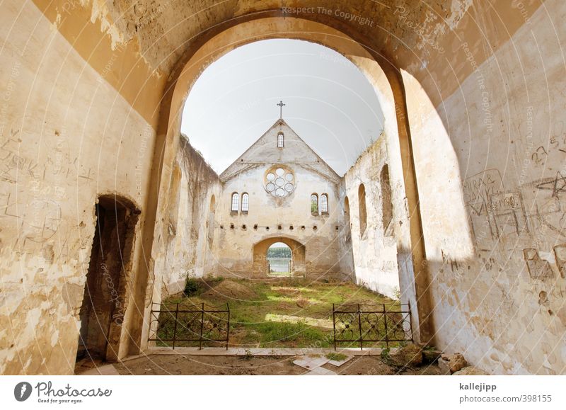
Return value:
M 35 0 L 47 11 L 62 11 L 66 0 Z M 265 33 L 279 31 L 279 36 L 293 36 L 285 25 L 293 18 L 322 23 L 340 30 L 341 42 L 350 36 L 354 42 L 389 57 L 397 67 L 405 67 L 424 84 L 435 105 L 451 95 L 473 69 L 461 64 L 466 54 L 459 48 L 468 42 L 485 42 L 476 50 L 479 63 L 504 44 L 540 5 L 538 0 L 499 0 L 497 7 L 484 0 L 80 0 L 93 7 L 93 20 L 112 34 L 115 44 L 131 41 L 139 47 L 144 64 L 171 72 L 175 63 L 191 51 L 200 35 L 214 36 L 226 28 L 257 18 L 277 18 L 265 27 Z M 49 6 L 47 6 L 49 5 Z M 69 9 L 69 7 L 67 7 Z M 504 13 L 502 11 L 505 11 Z M 74 8 L 71 10 L 75 12 Z M 279 30 L 278 30 L 279 28 Z M 71 28 L 66 32 L 73 33 Z M 316 37 L 317 30 L 306 29 L 303 37 Z M 255 40 L 246 31 L 238 40 Z M 346 41 L 347 42 L 347 41 Z M 356 45 L 352 45 L 354 47 Z M 218 52 L 218 50 L 213 51 Z M 188 53 L 187 53 L 188 54 Z M 214 60 L 212 55 L 205 59 Z M 456 75 L 454 75 L 456 74 Z M 442 82 L 442 86 L 437 84 Z

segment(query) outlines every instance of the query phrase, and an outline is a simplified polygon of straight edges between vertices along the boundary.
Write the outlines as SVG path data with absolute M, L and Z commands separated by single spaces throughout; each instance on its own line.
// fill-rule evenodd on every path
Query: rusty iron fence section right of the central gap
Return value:
M 338 343 L 412 342 L 409 304 L 333 304 L 334 349 Z

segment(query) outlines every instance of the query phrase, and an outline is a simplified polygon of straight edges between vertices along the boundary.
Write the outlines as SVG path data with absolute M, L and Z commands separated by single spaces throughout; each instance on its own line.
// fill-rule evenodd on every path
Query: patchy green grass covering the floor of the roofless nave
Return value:
M 195 307 L 200 307 L 203 302 L 211 306 L 228 303 L 231 314 L 230 346 L 246 348 L 330 347 L 333 346 L 333 304 L 395 303 L 352 283 L 308 283 L 302 279 L 230 280 L 248 287 L 255 296 L 239 298 L 207 292 L 221 280 L 198 280 L 200 283 L 192 280 L 186 292 L 190 296 L 170 297 L 163 303 L 171 305 L 183 302 Z M 347 347 L 347 344 L 340 346 Z M 352 346 L 357 344 L 352 343 Z M 364 346 L 370 347 L 371 344 L 364 343 Z

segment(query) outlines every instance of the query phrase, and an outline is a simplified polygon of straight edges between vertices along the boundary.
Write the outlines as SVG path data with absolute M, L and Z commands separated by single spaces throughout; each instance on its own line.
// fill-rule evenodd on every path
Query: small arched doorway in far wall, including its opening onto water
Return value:
M 253 275 L 304 276 L 305 254 L 305 246 L 294 239 L 263 239 L 253 246 Z

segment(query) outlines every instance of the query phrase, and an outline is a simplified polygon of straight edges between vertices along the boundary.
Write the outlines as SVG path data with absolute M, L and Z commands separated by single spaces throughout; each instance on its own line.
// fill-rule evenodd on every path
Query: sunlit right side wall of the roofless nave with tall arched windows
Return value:
M 344 176 L 341 202 L 343 204 L 347 197 L 350 204 L 356 282 L 383 295 L 399 297 L 395 230 L 398 230 L 399 222 L 401 224 L 406 222 L 406 217 L 404 212 L 397 210 L 391 224 L 383 227 L 383 193 L 381 192 L 380 173 L 385 164 L 388 164 L 386 136 L 381 135 Z M 363 234 L 360 231 L 358 195 L 359 186 L 362 183 L 366 192 L 367 213 L 367 226 Z M 404 190 L 400 189 L 399 183 L 394 183 L 391 188 L 395 198 L 404 196 Z

